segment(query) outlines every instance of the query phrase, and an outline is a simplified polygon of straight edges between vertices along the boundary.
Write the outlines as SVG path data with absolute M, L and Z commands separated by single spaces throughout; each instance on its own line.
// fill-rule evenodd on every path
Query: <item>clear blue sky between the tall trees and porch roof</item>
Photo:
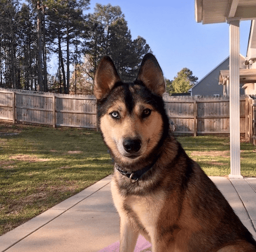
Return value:
M 202 79 L 229 56 L 229 25 L 202 25 L 195 21 L 194 0 L 91 0 L 119 5 L 132 39 L 142 36 L 167 79 L 172 80 L 183 67 Z M 240 22 L 240 53 L 246 56 L 251 21 Z

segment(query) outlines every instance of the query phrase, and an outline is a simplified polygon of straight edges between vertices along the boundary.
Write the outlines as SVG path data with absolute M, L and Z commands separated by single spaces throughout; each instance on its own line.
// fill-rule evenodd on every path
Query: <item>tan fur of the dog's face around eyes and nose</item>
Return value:
M 142 122 L 140 120 L 141 111 L 146 108 L 152 109 L 152 115 L 149 120 Z M 109 115 L 114 111 L 118 111 L 121 115 L 121 122 L 118 124 Z M 131 162 L 131 159 L 122 155 L 124 153 L 122 143 L 125 137 L 129 136 L 133 138 L 137 135 L 141 136 L 141 158 L 143 154 L 148 155 L 155 147 L 161 137 L 162 131 L 162 121 L 159 113 L 156 113 L 152 106 L 142 103 L 136 104 L 133 115 L 129 116 L 127 115 L 125 104 L 118 101 L 108 109 L 106 115 L 102 116 L 100 124 L 105 142 L 113 151 L 114 155 L 119 157 L 124 163 Z

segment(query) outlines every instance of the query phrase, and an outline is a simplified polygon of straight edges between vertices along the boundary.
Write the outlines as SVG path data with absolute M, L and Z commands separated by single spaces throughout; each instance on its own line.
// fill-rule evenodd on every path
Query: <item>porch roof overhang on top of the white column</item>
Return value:
M 255 18 L 256 1 L 253 0 L 195 0 L 196 22 L 214 24 Z

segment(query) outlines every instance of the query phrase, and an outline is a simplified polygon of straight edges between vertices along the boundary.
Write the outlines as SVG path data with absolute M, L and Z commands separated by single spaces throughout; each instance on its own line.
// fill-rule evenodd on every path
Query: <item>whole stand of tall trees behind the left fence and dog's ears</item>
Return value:
M 103 55 L 124 81 L 135 79 L 152 52 L 146 40 L 132 40 L 119 6 L 96 4 L 84 15 L 87 9 L 89 0 L 0 0 L 0 87 L 91 93 Z

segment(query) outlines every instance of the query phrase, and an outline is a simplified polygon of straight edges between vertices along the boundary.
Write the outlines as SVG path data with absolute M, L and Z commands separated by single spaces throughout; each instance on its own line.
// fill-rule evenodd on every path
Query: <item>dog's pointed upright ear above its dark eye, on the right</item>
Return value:
M 165 92 L 164 75 L 162 75 L 162 70 L 153 54 L 144 56 L 137 80 L 142 81 L 156 95 L 162 96 Z

